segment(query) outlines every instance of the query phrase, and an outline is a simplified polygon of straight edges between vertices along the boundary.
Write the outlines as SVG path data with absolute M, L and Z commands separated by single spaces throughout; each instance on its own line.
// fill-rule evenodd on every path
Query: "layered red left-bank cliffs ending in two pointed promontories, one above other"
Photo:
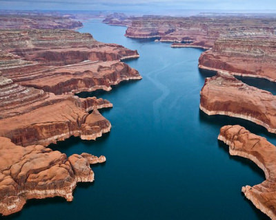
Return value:
M 141 79 L 120 60 L 137 58 L 137 51 L 95 41 L 90 34 L 70 30 L 1 30 L 0 70 L 14 83 L 75 94 L 110 90 L 122 80 Z M 1 55 L 1 54 L 0 54 Z

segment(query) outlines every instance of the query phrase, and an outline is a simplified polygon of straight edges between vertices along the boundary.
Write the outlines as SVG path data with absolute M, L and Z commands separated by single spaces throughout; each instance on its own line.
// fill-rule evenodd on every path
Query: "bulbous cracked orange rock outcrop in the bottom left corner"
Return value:
M 64 197 L 80 181 L 94 181 L 90 164 L 106 161 L 88 153 L 66 157 L 41 145 L 18 146 L 0 137 L 0 213 L 18 212 L 27 199 Z

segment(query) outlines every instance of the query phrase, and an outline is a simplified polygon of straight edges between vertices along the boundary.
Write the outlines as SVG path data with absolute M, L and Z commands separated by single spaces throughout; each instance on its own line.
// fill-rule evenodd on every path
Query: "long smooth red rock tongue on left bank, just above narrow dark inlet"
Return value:
M 86 61 L 63 67 L 26 65 L 3 69 L 3 75 L 20 85 L 55 94 L 76 94 L 97 89 L 110 91 L 111 85 L 121 81 L 141 79 L 137 70 L 119 61 Z

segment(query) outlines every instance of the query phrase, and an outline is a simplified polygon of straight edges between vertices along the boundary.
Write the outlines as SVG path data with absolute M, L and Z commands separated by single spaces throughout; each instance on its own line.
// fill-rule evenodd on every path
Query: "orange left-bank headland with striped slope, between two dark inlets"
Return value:
M 107 100 L 56 96 L 17 85 L 3 76 L 0 76 L 0 100 L 0 136 L 22 146 L 47 146 L 71 135 L 95 140 L 110 131 L 110 122 L 97 111 L 112 107 Z

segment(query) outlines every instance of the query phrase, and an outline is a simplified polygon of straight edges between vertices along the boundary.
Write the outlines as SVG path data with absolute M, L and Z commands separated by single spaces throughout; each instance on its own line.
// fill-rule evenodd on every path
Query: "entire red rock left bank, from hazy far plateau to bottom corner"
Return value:
M 90 164 L 104 156 L 67 157 L 46 148 L 71 136 L 96 140 L 111 129 L 98 109 L 112 103 L 79 98 L 141 76 L 121 61 L 135 50 L 95 41 L 74 30 L 70 17 L 0 15 L 0 213 L 18 212 L 27 199 L 72 201 L 77 182 L 93 181 Z M 61 29 L 62 28 L 62 29 Z

